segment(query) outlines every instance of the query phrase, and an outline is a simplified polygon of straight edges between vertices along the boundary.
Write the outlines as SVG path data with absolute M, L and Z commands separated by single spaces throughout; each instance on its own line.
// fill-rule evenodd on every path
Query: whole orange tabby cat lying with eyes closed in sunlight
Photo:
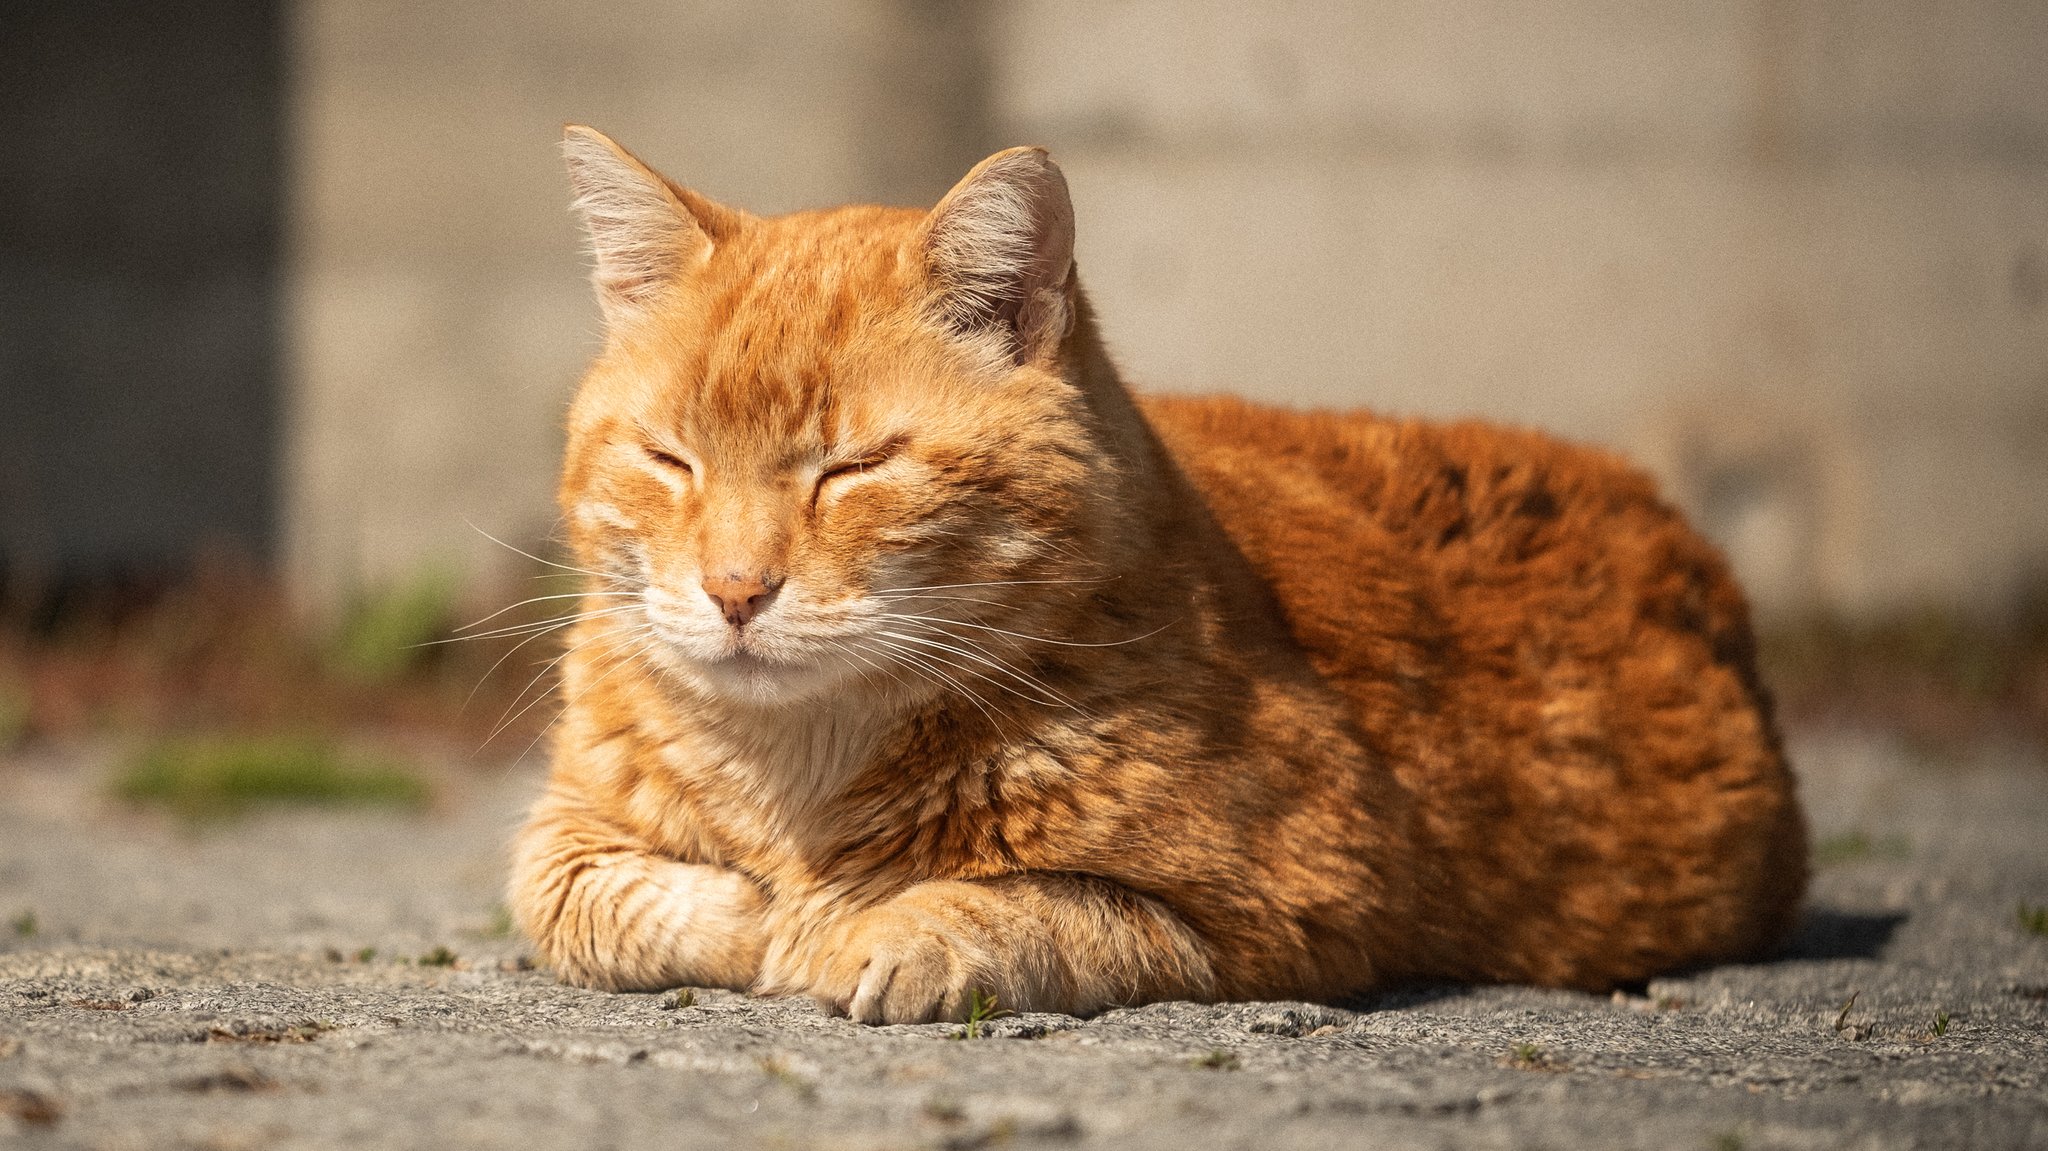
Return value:
M 1784 934 L 1743 598 L 1628 465 L 1135 406 L 1040 150 L 776 219 L 567 158 L 588 614 L 510 895 L 563 979 L 907 1022 L 1595 989 Z

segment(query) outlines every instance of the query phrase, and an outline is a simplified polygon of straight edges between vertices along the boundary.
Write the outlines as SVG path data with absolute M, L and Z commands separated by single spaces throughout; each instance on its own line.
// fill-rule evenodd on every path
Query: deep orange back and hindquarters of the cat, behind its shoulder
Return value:
M 1444 850 L 1556 911 L 1475 922 L 1604 922 L 1614 971 L 1782 934 L 1804 832 L 1747 606 L 1647 475 L 1489 424 L 1141 403 Z M 1606 946 L 1505 950 L 1599 985 Z

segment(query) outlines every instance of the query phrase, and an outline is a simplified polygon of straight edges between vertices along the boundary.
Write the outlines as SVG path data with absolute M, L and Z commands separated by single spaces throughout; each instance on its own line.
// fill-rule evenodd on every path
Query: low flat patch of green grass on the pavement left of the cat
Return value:
M 186 819 L 219 819 L 256 805 L 422 807 L 426 784 L 406 766 L 338 752 L 322 739 L 164 739 L 115 780 L 129 803 L 158 803 Z

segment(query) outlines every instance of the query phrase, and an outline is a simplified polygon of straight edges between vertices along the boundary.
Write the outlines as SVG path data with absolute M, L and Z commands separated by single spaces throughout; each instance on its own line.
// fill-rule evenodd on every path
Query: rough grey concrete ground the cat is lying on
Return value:
M 0 758 L 8 1147 L 2048 1147 L 2048 764 L 1794 741 L 1823 844 L 1790 954 L 1647 995 L 1440 987 L 862 1028 L 604 995 L 496 909 L 535 768 L 426 815 L 205 832 L 106 750 Z M 434 948 L 453 965 L 422 965 Z

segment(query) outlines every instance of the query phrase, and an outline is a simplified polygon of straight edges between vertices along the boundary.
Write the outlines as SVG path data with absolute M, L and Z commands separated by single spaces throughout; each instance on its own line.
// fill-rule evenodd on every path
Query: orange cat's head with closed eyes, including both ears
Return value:
M 598 641 L 748 705 L 1016 694 L 1004 633 L 1100 575 L 1073 209 L 1042 150 L 932 211 L 754 217 L 565 133 L 604 352 L 561 504 Z

